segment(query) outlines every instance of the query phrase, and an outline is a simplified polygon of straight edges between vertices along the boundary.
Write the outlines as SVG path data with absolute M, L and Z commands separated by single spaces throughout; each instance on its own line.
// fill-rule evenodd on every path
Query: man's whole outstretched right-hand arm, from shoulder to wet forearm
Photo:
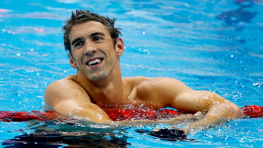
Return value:
M 242 110 L 231 101 L 224 99 L 214 92 L 196 91 L 181 81 L 172 78 L 152 78 L 145 82 L 153 89 L 151 102 L 163 107 L 173 107 L 195 114 L 206 113 L 202 120 L 187 125 L 188 129 L 197 126 L 214 125 L 229 117 L 242 117 Z M 157 101 L 156 101 L 157 100 Z

